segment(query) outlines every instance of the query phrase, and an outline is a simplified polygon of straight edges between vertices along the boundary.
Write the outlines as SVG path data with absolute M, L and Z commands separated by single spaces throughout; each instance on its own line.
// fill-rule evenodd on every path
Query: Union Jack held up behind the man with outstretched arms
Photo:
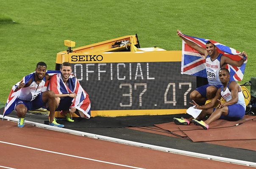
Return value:
M 232 60 L 241 60 L 241 57 L 238 56 L 241 54 L 241 52 L 231 47 L 225 46 L 213 40 L 188 36 L 182 34 L 181 32 L 178 32 L 178 34 L 203 48 L 206 48 L 206 42 L 210 41 L 212 44 L 217 46 L 217 52 L 231 58 Z M 203 55 L 182 41 L 181 74 L 190 74 L 207 78 L 205 62 L 206 60 Z M 231 66 L 228 64 L 226 65 L 226 68 L 230 72 L 231 81 L 242 81 L 245 73 L 246 63 L 247 60 L 242 64 L 241 67 Z

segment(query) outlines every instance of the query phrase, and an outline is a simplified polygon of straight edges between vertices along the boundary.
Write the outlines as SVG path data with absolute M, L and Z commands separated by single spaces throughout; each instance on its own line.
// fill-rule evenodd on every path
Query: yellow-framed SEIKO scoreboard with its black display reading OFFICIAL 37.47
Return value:
M 92 116 L 186 113 L 196 88 L 195 76 L 181 74 L 181 51 L 58 55 L 89 94 Z

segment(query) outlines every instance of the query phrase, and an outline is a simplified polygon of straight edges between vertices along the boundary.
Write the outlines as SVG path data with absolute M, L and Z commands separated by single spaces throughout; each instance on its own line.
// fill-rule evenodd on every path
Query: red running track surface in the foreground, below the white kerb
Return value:
M 29 125 L 18 128 L 17 123 L 10 121 L 0 120 L 0 127 L 0 168 L 1 166 L 15 169 L 250 168 L 50 131 Z

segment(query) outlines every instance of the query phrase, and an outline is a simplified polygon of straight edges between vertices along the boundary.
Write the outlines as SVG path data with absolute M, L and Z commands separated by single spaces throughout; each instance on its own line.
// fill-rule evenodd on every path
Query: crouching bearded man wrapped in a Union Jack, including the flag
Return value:
M 61 111 L 67 121 L 74 122 L 72 113 L 77 109 L 81 117 L 90 118 L 91 104 L 88 94 L 71 73 L 71 64 L 62 63 L 61 73 L 51 76 L 48 89 L 55 93 L 56 111 Z

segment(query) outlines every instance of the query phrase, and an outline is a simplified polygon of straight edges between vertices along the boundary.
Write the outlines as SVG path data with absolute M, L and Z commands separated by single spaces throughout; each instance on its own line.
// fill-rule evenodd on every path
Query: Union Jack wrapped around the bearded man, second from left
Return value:
M 70 107 L 75 107 L 83 118 L 91 117 L 91 103 L 89 100 L 89 95 L 83 90 L 78 79 L 75 76 L 70 75 L 69 85 L 65 85 L 62 80 L 61 73 L 51 76 L 48 90 L 52 90 L 55 94 L 68 94 L 75 93 L 77 96 L 73 98 L 72 105 Z

